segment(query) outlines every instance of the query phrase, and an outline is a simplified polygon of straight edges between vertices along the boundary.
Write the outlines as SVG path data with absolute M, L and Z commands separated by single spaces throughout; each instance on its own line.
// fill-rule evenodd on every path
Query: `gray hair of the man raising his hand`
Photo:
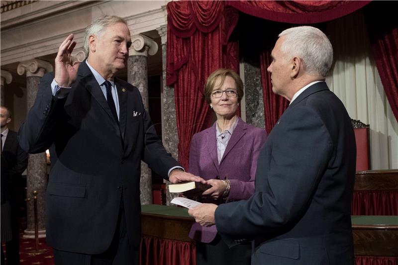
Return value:
M 84 34 L 84 52 L 86 57 L 89 56 L 90 48 L 89 48 L 89 36 L 90 35 L 98 35 L 104 30 L 106 27 L 114 25 L 118 22 L 124 23 L 127 25 L 126 20 L 119 16 L 115 15 L 104 15 L 96 18 L 91 22 L 89 26 L 86 28 L 86 32 Z

